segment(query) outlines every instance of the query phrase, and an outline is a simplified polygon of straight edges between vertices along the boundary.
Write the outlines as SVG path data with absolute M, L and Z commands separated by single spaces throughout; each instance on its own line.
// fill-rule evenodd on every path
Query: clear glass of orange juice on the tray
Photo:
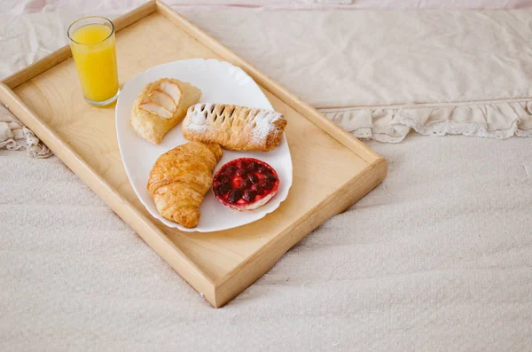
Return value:
M 119 92 L 113 22 L 98 16 L 76 20 L 68 39 L 85 100 L 94 106 L 113 103 Z

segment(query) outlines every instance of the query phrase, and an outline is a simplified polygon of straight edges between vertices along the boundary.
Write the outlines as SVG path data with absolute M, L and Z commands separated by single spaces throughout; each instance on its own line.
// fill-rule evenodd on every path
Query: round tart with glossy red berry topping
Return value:
M 223 205 L 245 211 L 262 207 L 279 188 L 279 176 L 267 163 L 253 158 L 229 161 L 216 172 L 215 196 Z

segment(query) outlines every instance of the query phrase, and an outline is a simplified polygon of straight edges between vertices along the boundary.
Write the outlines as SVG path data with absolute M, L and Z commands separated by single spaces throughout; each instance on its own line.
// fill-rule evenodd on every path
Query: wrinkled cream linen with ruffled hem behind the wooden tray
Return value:
M 356 137 L 397 143 L 411 130 L 429 136 L 532 136 L 532 8 L 184 11 Z M 212 12 L 221 20 L 212 20 Z M 5 67 L 29 65 L 64 45 L 66 26 L 79 16 L 52 12 L 6 20 L 0 35 L 7 49 L 0 59 Z

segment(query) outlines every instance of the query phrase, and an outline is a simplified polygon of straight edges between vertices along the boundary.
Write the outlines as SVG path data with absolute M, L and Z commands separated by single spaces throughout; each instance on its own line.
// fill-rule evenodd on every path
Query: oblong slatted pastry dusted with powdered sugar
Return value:
M 196 104 L 184 117 L 183 136 L 233 151 L 270 152 L 283 137 L 282 113 L 226 104 Z

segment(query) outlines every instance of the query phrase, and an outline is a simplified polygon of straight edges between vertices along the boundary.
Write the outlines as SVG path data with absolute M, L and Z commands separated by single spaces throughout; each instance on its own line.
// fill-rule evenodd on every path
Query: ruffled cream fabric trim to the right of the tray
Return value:
M 411 129 L 426 136 L 532 137 L 532 100 L 320 110 L 355 137 L 384 143 L 401 142 Z

